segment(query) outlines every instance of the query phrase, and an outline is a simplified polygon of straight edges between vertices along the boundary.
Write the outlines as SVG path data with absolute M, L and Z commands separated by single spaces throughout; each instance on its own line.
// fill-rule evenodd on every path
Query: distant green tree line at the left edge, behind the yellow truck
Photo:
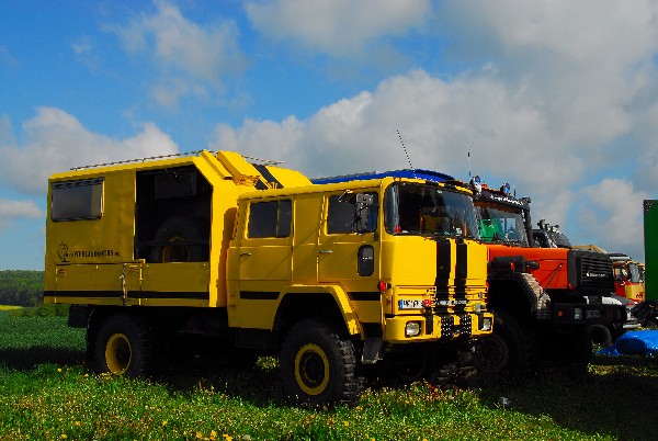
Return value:
M 36 306 L 43 297 L 43 271 L 0 271 L 0 305 Z

